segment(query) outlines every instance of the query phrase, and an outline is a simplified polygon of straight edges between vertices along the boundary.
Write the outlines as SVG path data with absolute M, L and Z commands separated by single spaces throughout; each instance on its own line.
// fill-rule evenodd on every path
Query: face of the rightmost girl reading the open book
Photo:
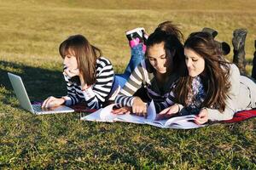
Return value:
M 189 71 L 189 76 L 197 77 L 205 70 L 205 59 L 190 48 L 184 48 L 184 54 L 186 56 L 186 65 Z

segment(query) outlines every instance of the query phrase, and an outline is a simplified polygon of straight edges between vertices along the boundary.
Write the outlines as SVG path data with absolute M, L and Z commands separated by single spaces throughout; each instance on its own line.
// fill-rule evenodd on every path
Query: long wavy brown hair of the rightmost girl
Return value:
M 223 112 L 225 100 L 229 97 L 230 89 L 230 65 L 221 55 L 217 42 L 207 32 L 195 32 L 190 34 L 184 43 L 184 48 L 192 49 L 205 59 L 205 69 L 200 77 L 206 92 L 206 98 L 201 107 L 215 108 Z M 174 89 L 177 102 L 187 106 L 189 90 L 191 90 L 193 77 L 189 77 L 186 69 L 186 76 L 180 77 Z

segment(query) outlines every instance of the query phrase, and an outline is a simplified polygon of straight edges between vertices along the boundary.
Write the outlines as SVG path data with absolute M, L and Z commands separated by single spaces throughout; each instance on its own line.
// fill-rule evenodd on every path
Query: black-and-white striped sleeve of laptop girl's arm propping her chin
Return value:
M 84 99 L 89 109 L 99 109 L 106 101 L 113 85 L 113 65 L 108 59 L 98 59 L 96 83 L 83 90 Z

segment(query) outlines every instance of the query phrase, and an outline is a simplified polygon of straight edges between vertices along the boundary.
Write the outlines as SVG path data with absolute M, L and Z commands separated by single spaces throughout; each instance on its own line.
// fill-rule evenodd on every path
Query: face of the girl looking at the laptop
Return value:
M 78 60 L 75 57 L 73 50 L 67 50 L 67 52 L 65 53 L 65 58 L 63 60 L 63 64 L 69 70 L 75 70 L 78 68 Z

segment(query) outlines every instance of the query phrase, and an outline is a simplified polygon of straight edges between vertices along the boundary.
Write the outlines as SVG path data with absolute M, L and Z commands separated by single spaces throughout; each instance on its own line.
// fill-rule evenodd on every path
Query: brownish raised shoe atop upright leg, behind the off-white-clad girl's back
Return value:
M 244 47 L 245 40 L 247 37 L 247 30 L 246 29 L 236 29 L 233 32 L 233 39 L 232 44 L 235 50 L 239 50 L 240 48 Z

